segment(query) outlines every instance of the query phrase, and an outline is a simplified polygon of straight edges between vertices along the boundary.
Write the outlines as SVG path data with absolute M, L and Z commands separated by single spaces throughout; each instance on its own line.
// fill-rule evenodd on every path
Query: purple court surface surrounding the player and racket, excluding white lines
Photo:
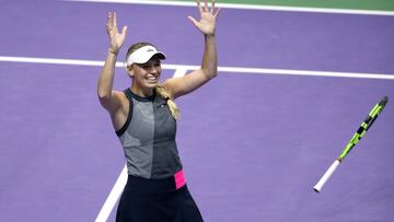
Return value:
M 165 63 L 199 65 L 194 8 L 3 2 L 0 56 L 103 60 L 107 11 Z M 394 73 L 394 17 L 223 9 L 219 66 Z M 120 52 L 121 60 L 125 50 Z M 0 62 L 0 221 L 94 221 L 123 166 L 100 67 Z M 116 70 L 115 89 L 130 80 Z M 173 70 L 165 70 L 170 77 Z M 177 101 L 177 142 L 206 221 L 391 221 L 392 101 L 321 194 L 312 187 L 393 80 L 220 72 Z M 114 214 L 108 221 L 114 221 Z

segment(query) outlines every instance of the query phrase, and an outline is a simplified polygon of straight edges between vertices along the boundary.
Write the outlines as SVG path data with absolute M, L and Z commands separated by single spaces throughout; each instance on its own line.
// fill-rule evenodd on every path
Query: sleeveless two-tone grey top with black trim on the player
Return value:
M 175 142 L 176 121 L 166 100 L 141 97 L 124 91 L 130 108 L 126 124 L 116 131 L 125 151 L 128 174 L 143 178 L 165 178 L 182 170 Z

